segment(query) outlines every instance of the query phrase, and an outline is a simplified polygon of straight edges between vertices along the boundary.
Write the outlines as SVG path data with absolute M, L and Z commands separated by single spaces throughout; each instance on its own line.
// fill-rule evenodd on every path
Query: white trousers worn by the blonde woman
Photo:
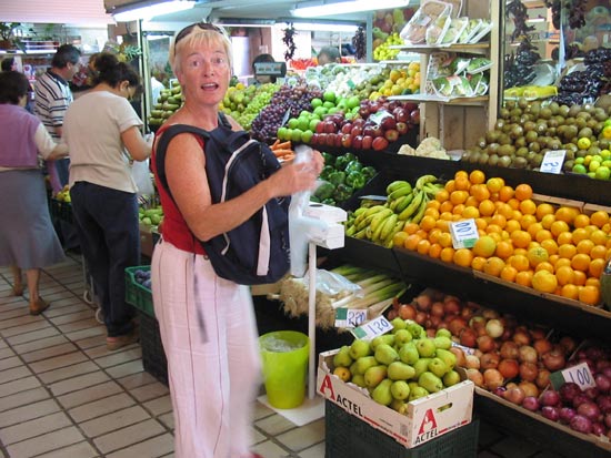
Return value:
M 177 458 L 248 456 L 261 383 L 248 286 L 220 278 L 203 256 L 160 241 L 154 313 L 168 358 Z

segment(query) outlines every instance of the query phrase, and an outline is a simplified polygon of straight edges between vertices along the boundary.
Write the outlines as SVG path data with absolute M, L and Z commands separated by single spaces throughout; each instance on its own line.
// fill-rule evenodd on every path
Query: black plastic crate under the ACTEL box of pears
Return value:
M 324 403 L 325 458 L 474 458 L 478 455 L 479 421 L 473 419 L 453 431 L 414 448 Z

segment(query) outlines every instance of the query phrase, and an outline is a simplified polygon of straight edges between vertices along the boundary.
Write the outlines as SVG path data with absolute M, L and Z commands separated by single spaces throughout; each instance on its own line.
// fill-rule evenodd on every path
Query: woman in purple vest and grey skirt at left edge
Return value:
M 42 171 L 42 159 L 68 155 L 38 118 L 24 110 L 30 82 L 23 73 L 0 73 L 0 265 L 10 265 L 14 276 L 12 294 L 23 294 L 21 269 L 30 292 L 30 314 L 39 315 L 49 304 L 40 297 L 40 268 L 63 259 L 53 231 Z

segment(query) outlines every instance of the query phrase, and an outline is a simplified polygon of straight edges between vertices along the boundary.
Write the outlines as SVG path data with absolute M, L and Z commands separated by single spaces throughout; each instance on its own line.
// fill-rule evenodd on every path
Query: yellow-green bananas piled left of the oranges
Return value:
M 393 181 L 385 190 L 387 202 L 352 212 L 345 223 L 345 235 L 392 247 L 394 234 L 407 222 L 419 223 L 424 216 L 427 202 L 442 187 L 435 182 L 434 175 L 420 176 L 413 187 L 404 180 Z

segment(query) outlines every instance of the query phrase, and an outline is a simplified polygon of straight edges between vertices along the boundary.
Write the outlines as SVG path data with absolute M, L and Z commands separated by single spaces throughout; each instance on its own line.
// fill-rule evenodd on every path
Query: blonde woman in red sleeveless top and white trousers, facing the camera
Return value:
M 176 35 L 170 64 L 184 105 L 167 124 L 214 130 L 231 77 L 231 42 L 226 33 L 207 23 L 187 27 Z M 230 122 L 234 130 L 241 129 Z M 312 189 L 322 157 L 315 154 L 311 164 L 286 165 L 221 204 L 211 202 L 204 163 L 198 138 L 179 134 L 169 143 L 164 162 L 172 197 L 158 180 L 164 220 L 162 240 L 153 252 L 152 291 L 168 358 L 174 454 L 247 458 L 254 456 L 248 448 L 261 369 L 252 298 L 248 286 L 216 275 L 197 240 L 237 227 L 270 199 Z

